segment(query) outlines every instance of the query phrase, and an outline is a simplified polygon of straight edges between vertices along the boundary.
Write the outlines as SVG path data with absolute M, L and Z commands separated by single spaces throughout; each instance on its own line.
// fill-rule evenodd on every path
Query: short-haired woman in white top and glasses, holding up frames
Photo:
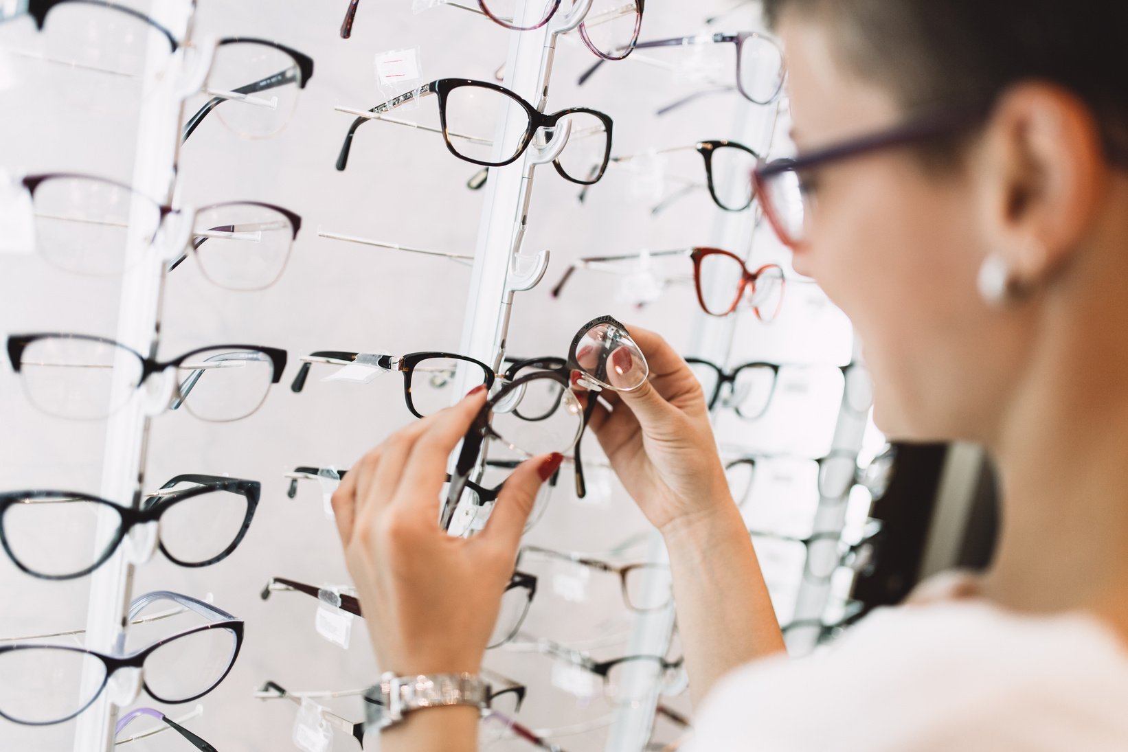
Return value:
M 875 421 L 984 444 L 1002 478 L 990 570 L 882 609 L 790 662 L 702 391 L 637 334 L 649 386 L 593 428 L 670 552 L 695 750 L 1128 750 L 1128 3 L 765 0 L 788 57 L 805 214 L 761 201 L 794 266 L 852 318 Z M 844 149 L 823 151 L 846 144 Z M 775 204 L 773 205 L 773 200 Z M 478 670 L 540 478 L 486 530 L 435 530 L 448 454 L 485 395 L 400 431 L 334 496 L 379 663 Z M 457 626 L 457 627 L 456 627 Z M 387 750 L 470 750 L 468 707 Z

